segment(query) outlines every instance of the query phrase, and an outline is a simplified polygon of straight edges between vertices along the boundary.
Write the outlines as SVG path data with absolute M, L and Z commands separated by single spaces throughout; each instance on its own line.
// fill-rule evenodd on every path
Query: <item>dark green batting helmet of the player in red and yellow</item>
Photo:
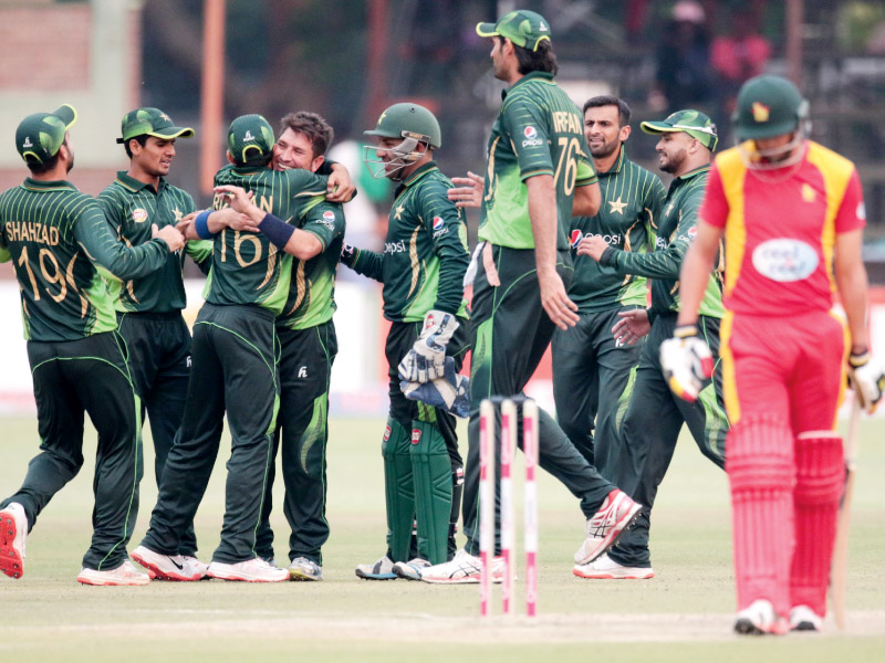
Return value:
M 747 81 L 731 116 L 738 140 L 772 138 L 795 130 L 808 117 L 809 103 L 787 78 L 762 75 Z

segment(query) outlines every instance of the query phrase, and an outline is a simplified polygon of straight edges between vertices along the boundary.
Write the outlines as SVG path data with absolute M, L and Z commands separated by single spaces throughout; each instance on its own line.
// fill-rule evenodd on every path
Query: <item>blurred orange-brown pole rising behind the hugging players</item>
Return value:
M 225 112 L 225 0 L 206 0 L 202 27 L 200 97 L 200 191 L 210 196 L 221 168 L 221 119 Z

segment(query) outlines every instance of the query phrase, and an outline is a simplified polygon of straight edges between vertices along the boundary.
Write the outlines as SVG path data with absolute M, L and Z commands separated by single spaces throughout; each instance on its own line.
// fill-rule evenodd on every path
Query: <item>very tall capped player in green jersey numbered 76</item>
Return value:
M 553 80 L 550 24 L 517 10 L 497 23 L 480 23 L 477 33 L 491 38 L 494 76 L 509 87 L 489 138 L 480 210 L 485 246 L 472 302 L 467 544 L 450 562 L 420 572 L 421 580 L 440 583 L 479 581 L 479 406 L 521 394 L 554 327 L 577 323 L 577 306 L 566 294 L 573 273 L 568 232 L 572 214 L 592 217 L 600 207 L 581 113 Z M 587 537 L 575 559 L 591 561 L 614 544 L 639 505 L 600 476 L 544 411 L 539 448 L 541 466 L 581 499 Z M 496 548 L 497 554 L 500 540 Z M 500 557 L 490 571 L 502 577 Z

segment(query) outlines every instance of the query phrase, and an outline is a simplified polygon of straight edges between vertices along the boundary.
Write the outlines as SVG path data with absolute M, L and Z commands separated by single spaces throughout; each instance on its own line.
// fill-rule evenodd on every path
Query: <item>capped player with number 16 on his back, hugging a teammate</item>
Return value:
M 228 130 L 231 165 L 218 171 L 215 183 L 251 192 L 268 215 L 296 220 L 323 200 L 326 178 L 268 168 L 273 144 L 273 130 L 260 115 L 235 119 Z M 227 207 L 229 200 L 229 192 L 217 193 L 215 208 Z M 189 231 L 212 236 L 210 215 L 202 212 Z M 225 519 L 207 575 L 250 582 L 289 579 L 287 569 L 269 565 L 256 550 L 279 407 L 274 320 L 289 295 L 292 269 L 283 248 L 295 231 L 275 221 L 275 232 L 262 221 L 260 233 L 223 228 L 214 235 L 206 304 L 194 325 L 181 429 L 166 461 L 150 528 L 133 551 L 157 576 L 199 578 L 178 550 L 206 491 L 227 411 L 232 442 Z

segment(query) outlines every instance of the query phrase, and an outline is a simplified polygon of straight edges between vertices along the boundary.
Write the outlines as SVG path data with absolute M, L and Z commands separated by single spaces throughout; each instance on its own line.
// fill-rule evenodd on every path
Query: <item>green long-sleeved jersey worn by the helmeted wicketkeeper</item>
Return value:
M 467 317 L 464 274 L 470 262 L 461 210 L 448 199 L 451 181 L 434 161 L 396 191 L 384 253 L 357 251 L 353 269 L 384 284 L 384 317 L 424 319 L 428 311 Z

